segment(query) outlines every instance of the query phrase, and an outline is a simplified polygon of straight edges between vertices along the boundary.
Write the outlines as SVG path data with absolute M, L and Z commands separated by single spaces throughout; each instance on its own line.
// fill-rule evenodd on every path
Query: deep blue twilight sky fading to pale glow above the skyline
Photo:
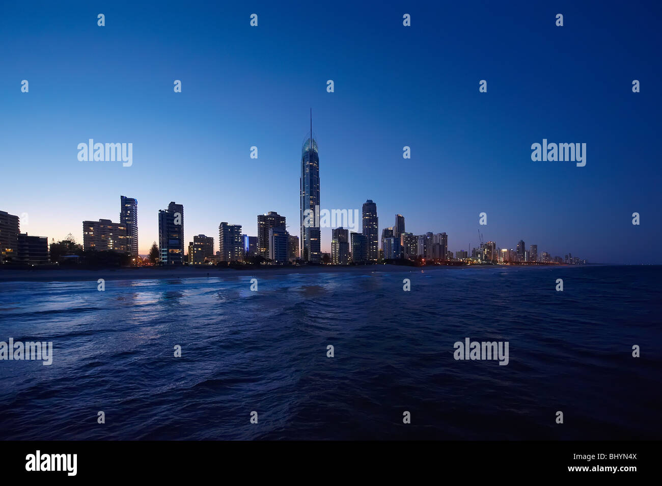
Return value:
M 207 234 L 217 250 L 221 221 L 255 236 L 268 211 L 299 235 L 312 107 L 322 209 L 372 199 L 380 234 L 400 213 L 453 252 L 480 231 L 499 248 L 662 264 L 662 7 L 457 4 L 6 3 L 0 211 L 82 242 L 83 220 L 118 221 L 120 195 L 135 197 L 141 254 L 170 201 L 186 243 Z M 80 162 L 89 138 L 132 143 L 132 166 Z M 544 138 L 587 144 L 586 166 L 532 161 Z M 322 251 L 330 240 L 323 228 Z

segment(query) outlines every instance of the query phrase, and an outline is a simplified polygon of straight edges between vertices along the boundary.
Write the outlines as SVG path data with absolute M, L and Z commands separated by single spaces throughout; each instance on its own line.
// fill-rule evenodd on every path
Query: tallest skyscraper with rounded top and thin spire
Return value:
M 312 109 L 310 109 L 310 133 L 301 147 L 301 260 L 320 261 L 320 226 L 316 211 L 320 207 L 320 157 L 317 141 L 312 136 Z

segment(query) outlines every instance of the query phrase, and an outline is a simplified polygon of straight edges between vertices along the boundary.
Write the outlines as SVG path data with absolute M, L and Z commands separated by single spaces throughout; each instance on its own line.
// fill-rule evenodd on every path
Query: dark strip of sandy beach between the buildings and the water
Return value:
M 153 279 L 182 279 L 182 278 L 218 278 L 237 277 L 240 275 L 289 275 L 291 273 L 340 273 L 369 271 L 399 271 L 412 273 L 433 269 L 467 269 L 467 268 L 498 268 L 504 266 L 475 265 L 475 266 L 446 266 L 430 265 L 422 267 L 377 264 L 365 266 L 285 266 L 285 267 L 255 267 L 247 269 L 219 268 L 219 267 L 138 267 L 138 268 L 112 268 L 112 269 L 3 269 L 0 270 L 0 283 L 2 282 L 71 282 L 87 281 L 103 278 L 104 280 L 153 280 Z M 513 266 L 514 267 L 514 266 Z M 553 266 L 516 266 L 516 267 L 559 267 Z

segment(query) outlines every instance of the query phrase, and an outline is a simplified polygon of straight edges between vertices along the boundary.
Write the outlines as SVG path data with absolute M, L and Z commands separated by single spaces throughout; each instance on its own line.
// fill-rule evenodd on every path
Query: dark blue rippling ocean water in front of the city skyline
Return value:
M 0 361 L 0 438 L 660 439 L 660 269 L 3 282 L 0 341 L 54 358 Z M 467 337 L 508 365 L 455 360 Z

